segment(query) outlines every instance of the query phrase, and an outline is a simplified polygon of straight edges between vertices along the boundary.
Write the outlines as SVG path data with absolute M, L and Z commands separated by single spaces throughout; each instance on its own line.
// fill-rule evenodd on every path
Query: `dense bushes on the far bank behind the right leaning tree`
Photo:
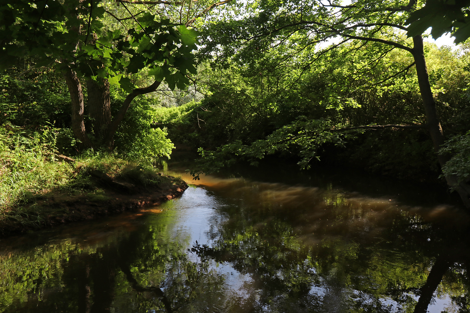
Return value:
M 303 159 L 302 167 L 310 158 L 320 157 L 331 163 L 340 162 L 380 174 L 436 179 L 438 161 L 428 133 L 421 130 L 335 131 L 331 136 L 342 138 L 340 141 L 312 136 L 311 142 L 303 143 L 304 148 L 289 141 L 289 134 L 302 131 L 296 120 L 298 116 L 305 116 L 302 127 L 318 127 L 315 129 L 318 132 L 424 120 L 424 110 L 418 105 L 421 99 L 415 69 L 387 79 L 390 66 L 406 67 L 412 62 L 410 56 L 406 51 L 395 49 L 377 59 L 373 68 L 368 68 L 365 60 L 380 53 L 380 49 L 375 44 L 352 42 L 322 55 L 316 60 L 316 66 L 303 70 L 301 76 L 296 76 L 294 65 L 287 63 L 281 68 L 269 63 L 256 65 L 259 71 L 256 73 L 252 73 L 252 66 L 221 70 L 208 67 L 207 72 L 201 74 L 208 77 L 205 87 L 212 95 L 191 106 L 160 108 L 157 120 L 168 127 L 172 141 L 204 149 L 201 150 L 204 157 L 198 161 L 200 166 L 195 168 L 195 173 L 202 168 L 217 171 L 223 164 L 241 159 L 255 161 L 266 149 L 266 153 L 283 152 L 297 160 Z M 268 50 L 264 56 L 275 62 L 280 58 L 278 53 Z M 438 101 L 443 128 L 446 132 L 460 132 L 467 116 L 464 113 L 470 107 L 465 93 L 469 81 L 465 70 L 468 50 L 462 47 L 462 50 L 452 51 L 449 47 L 428 44 L 426 53 L 431 88 Z M 313 123 L 321 120 L 324 124 Z M 298 128 L 293 127 L 295 125 Z M 308 134 L 305 130 L 304 135 Z M 283 147 L 278 145 L 282 136 L 287 140 L 283 144 L 288 144 Z M 257 140 L 266 140 L 265 146 Z M 300 153 L 310 154 L 307 158 Z

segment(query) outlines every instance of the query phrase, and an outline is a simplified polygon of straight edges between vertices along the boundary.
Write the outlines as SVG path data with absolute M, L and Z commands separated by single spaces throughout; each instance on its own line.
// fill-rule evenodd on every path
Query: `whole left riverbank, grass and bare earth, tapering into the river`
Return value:
M 0 149 L 0 237 L 158 205 L 188 188 L 148 163 L 49 151 Z

